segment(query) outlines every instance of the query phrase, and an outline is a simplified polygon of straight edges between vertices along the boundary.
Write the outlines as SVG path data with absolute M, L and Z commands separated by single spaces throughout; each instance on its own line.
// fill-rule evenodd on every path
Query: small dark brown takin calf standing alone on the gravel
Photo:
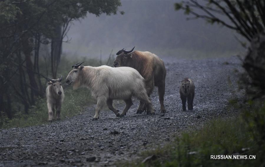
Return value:
M 194 92 L 195 86 L 191 79 L 185 78 L 181 81 L 179 87 L 179 94 L 182 101 L 182 109 L 186 111 L 186 101 L 188 99 L 188 110 L 193 110 L 193 99 L 194 99 Z

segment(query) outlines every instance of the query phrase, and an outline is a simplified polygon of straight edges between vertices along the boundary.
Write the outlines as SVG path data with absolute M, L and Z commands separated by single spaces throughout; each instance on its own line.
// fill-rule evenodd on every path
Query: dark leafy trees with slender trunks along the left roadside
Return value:
M 0 112 L 11 118 L 24 105 L 27 113 L 36 97 L 44 97 L 44 78 L 49 74 L 39 70 L 41 45 L 51 48 L 46 68 L 56 78 L 70 22 L 87 12 L 116 14 L 119 6 L 119 0 L 1 0 Z

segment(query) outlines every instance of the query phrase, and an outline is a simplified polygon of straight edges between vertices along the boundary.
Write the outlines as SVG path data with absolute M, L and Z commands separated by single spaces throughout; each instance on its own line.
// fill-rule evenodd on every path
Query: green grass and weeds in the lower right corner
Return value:
M 261 110 L 265 113 L 264 107 Z M 264 166 L 264 143 L 258 145 L 254 134 L 259 134 L 253 128 L 250 130 L 244 116 L 211 120 L 199 130 L 183 132 L 164 147 L 140 153 L 143 158 L 118 166 Z M 142 162 L 153 155 L 155 160 Z M 211 159 L 211 155 L 232 155 L 232 158 L 233 155 L 247 155 L 248 158 L 255 155 L 256 159 Z

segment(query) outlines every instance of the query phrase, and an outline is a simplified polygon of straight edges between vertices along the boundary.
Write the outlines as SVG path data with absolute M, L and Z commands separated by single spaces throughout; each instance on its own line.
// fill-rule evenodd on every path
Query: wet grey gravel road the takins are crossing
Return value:
M 236 90 L 236 57 L 166 62 L 165 108 L 160 114 L 157 88 L 151 99 L 156 115 L 136 114 L 138 100 L 123 118 L 107 108 L 100 120 L 91 121 L 95 105 L 84 114 L 42 126 L 0 130 L 0 166 L 113 166 L 138 153 L 174 140 L 189 127 L 200 127 L 216 117 L 228 117 L 225 108 Z M 189 77 L 195 84 L 193 111 L 182 111 L 180 81 Z M 229 79 L 228 79 L 229 78 Z M 228 81 L 231 80 L 231 83 Z M 114 102 L 122 111 L 121 101 Z M 62 111 L 63 112 L 63 111 Z M 48 113 L 47 113 L 48 117 Z M 145 158 L 145 157 L 143 157 Z

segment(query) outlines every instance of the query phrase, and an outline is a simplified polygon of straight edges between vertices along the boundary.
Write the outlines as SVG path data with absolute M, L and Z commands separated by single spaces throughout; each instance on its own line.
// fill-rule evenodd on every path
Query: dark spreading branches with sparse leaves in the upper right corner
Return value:
M 265 30 L 264 0 L 190 0 L 176 3 L 175 9 L 193 15 L 190 19 L 202 18 L 236 30 L 249 42 L 255 34 Z M 222 19 L 224 17 L 230 22 Z

